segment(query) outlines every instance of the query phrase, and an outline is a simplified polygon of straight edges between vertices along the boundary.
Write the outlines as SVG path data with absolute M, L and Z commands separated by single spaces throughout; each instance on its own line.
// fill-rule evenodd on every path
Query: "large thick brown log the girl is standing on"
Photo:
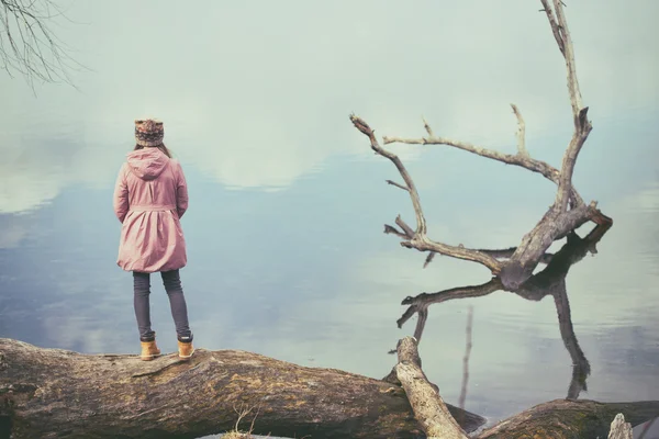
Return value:
M 422 434 L 399 385 L 334 369 L 239 350 L 198 349 L 189 362 L 176 354 L 144 362 L 0 338 L 0 431 L 12 439 L 197 438 L 231 430 L 237 406 L 257 407 L 255 435 Z M 466 431 L 484 424 L 447 406 Z

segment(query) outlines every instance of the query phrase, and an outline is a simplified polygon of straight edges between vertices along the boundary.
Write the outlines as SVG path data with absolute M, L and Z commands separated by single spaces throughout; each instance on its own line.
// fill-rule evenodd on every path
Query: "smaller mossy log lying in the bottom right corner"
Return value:
M 478 439 L 579 439 L 606 438 L 611 420 L 622 413 L 639 425 L 659 412 L 659 401 L 599 403 L 556 399 L 539 404 L 484 430 Z

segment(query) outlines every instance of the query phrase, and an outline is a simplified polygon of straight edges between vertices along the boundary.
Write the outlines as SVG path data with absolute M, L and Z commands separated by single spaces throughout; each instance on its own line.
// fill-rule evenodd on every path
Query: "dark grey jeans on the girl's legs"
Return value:
M 188 306 L 183 296 L 181 279 L 178 270 L 160 272 L 165 291 L 169 296 L 169 306 L 171 316 L 176 325 L 176 335 L 179 341 L 192 341 L 192 331 L 188 324 Z M 150 305 L 148 296 L 150 294 L 150 275 L 133 271 L 133 290 L 135 317 L 137 318 L 137 329 L 139 330 L 141 341 L 153 341 L 156 333 L 150 327 Z

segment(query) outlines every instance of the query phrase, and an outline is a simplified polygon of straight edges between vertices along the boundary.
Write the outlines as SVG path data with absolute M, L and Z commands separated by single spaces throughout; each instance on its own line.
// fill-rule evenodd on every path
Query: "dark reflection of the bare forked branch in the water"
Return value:
M 560 250 L 544 256 L 541 260 L 541 263 L 546 264 L 544 270 L 534 274 L 520 290 L 512 291 L 512 293 L 534 302 L 539 302 L 548 295 L 554 297 L 560 336 L 572 359 L 572 378 L 568 386 L 567 399 L 577 399 L 581 392 L 588 391 L 587 379 L 590 375 L 591 367 L 574 334 L 566 277 L 574 263 L 581 261 L 588 254 L 595 255 L 597 252 L 596 244 L 610 227 L 608 224 L 597 225 L 583 238 L 572 232 L 568 235 L 567 243 Z M 505 257 L 512 255 L 513 251 L 514 249 L 491 252 Z M 414 337 L 421 342 L 431 305 L 457 299 L 481 297 L 500 290 L 504 290 L 501 281 L 499 278 L 493 278 L 480 285 L 454 288 L 431 294 L 424 292 L 415 297 L 407 296 L 402 304 L 410 306 L 396 320 L 398 326 L 399 328 L 402 327 L 414 314 L 417 314 L 418 319 L 416 320 Z

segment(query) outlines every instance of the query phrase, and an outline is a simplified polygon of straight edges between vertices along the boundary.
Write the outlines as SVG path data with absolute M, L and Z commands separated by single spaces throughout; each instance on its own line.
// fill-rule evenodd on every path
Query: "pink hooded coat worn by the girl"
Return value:
M 116 178 L 113 204 L 122 223 L 119 267 L 153 273 L 186 266 L 179 219 L 188 209 L 188 185 L 178 160 L 153 147 L 130 153 Z

